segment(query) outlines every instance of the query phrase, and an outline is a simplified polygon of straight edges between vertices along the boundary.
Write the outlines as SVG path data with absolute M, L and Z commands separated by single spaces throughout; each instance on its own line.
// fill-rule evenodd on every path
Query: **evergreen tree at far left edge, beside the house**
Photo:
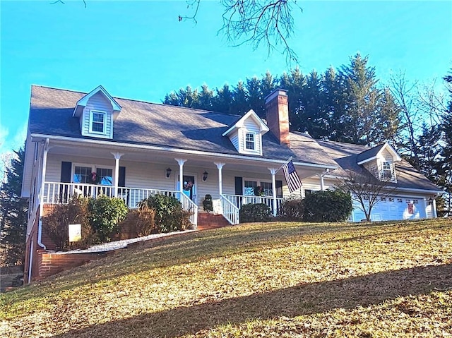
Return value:
M 6 181 L 0 187 L 0 248 L 4 253 L 2 265 L 23 263 L 28 201 L 21 198 L 25 150 L 20 148 L 16 158 L 6 168 Z

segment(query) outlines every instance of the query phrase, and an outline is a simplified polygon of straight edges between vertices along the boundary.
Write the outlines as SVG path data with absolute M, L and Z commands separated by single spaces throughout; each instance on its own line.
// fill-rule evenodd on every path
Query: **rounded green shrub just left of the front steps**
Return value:
M 157 233 L 185 230 L 191 225 L 190 212 L 182 209 L 182 203 L 172 196 L 155 194 L 138 203 L 142 208 L 147 205 L 155 212 L 155 227 Z

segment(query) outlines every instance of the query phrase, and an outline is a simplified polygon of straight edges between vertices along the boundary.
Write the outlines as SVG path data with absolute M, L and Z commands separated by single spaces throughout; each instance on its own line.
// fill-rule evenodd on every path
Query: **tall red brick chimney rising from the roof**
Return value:
M 276 89 L 266 97 L 267 126 L 281 145 L 290 146 L 287 90 Z

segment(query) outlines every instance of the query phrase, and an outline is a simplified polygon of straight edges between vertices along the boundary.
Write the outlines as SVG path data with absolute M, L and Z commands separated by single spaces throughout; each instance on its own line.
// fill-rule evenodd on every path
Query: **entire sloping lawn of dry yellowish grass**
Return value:
M 452 221 L 191 233 L 1 302 L 1 337 L 452 337 Z

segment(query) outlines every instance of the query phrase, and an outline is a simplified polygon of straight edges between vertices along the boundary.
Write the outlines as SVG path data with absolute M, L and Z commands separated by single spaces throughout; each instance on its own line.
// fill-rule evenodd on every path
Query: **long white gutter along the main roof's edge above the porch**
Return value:
M 93 139 L 85 139 L 85 138 L 69 138 L 66 136 L 55 136 L 55 135 L 42 135 L 42 134 L 31 134 L 32 138 L 45 138 L 46 140 L 52 139 L 52 140 L 60 140 L 60 141 L 66 141 L 66 142 L 78 142 L 78 143 L 89 143 L 89 144 L 96 144 L 96 145 L 107 145 L 111 147 L 112 145 L 117 145 L 119 147 L 126 147 L 126 148 L 133 148 L 133 149 L 142 149 L 142 150 L 155 150 L 160 152 L 173 152 L 175 154 L 184 154 L 184 155 L 199 155 L 203 157 L 215 157 L 218 159 L 218 157 L 227 158 L 227 159 L 242 159 L 242 160 L 251 160 L 254 162 L 265 162 L 265 163 L 274 163 L 278 166 L 280 164 L 284 164 L 286 161 L 283 159 L 262 159 L 260 157 L 246 157 L 246 156 L 240 156 L 240 155 L 232 155 L 232 154 L 220 154 L 218 152 L 201 152 L 199 150 L 186 150 L 186 149 L 180 149 L 175 147 L 160 147 L 157 145 L 140 145 L 140 144 L 129 144 L 129 143 L 119 143 L 115 141 L 105 141 L 105 140 L 93 140 Z M 321 168 L 321 169 L 338 169 L 338 166 L 334 165 L 328 165 L 328 164 L 314 164 L 314 163 L 307 163 L 307 162 L 293 162 L 294 164 L 298 166 L 303 167 L 312 167 L 312 168 Z

